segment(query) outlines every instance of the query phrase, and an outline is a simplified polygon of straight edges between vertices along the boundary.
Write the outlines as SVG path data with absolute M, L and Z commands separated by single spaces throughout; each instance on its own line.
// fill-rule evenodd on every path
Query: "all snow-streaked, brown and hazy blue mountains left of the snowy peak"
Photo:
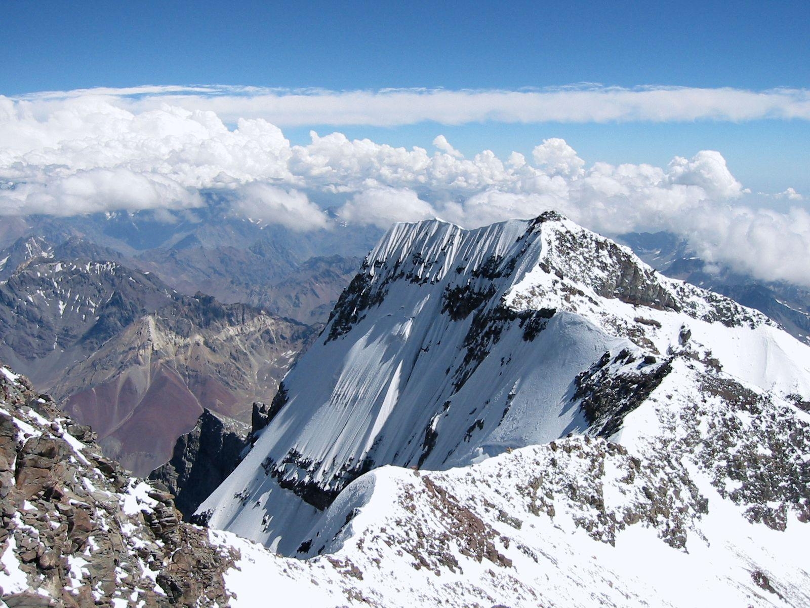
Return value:
M 246 421 L 254 400 L 272 399 L 369 238 L 346 238 L 337 218 L 298 238 L 213 198 L 4 227 L 0 357 L 141 475 L 203 409 Z

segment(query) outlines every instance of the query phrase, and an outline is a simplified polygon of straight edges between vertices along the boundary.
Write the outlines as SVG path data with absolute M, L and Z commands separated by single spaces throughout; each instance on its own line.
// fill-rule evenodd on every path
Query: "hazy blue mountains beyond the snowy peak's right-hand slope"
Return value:
M 810 344 L 810 289 L 784 281 L 757 280 L 716 265 L 710 272 L 689 244 L 672 233 L 627 233 L 617 240 L 659 272 L 760 310 L 792 336 Z

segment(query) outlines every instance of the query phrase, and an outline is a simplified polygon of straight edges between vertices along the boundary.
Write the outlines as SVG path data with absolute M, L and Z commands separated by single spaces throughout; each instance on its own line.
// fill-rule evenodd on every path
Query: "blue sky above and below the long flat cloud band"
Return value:
M 0 93 L 139 84 L 330 90 L 571 83 L 810 87 L 810 2 L 6 2 Z M 710 148 L 755 191 L 810 191 L 808 121 L 285 127 L 467 155 L 561 137 L 587 161 Z

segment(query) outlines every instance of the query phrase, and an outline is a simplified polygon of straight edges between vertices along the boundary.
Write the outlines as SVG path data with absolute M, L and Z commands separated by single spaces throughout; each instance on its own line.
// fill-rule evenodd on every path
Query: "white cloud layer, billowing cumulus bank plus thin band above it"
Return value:
M 800 207 L 787 213 L 746 207 L 747 191 L 718 152 L 701 151 L 655 167 L 588 165 L 562 139 L 539 143 L 531 159 L 517 152 L 501 159 L 489 151 L 465 158 L 443 135 L 433 141 L 436 149 L 430 152 L 351 140 L 340 133 L 313 132 L 311 143 L 292 146 L 279 127 L 264 118 L 236 118 L 235 127 L 228 128 L 230 119 L 187 103 L 190 99 L 230 103 L 238 98 L 254 104 L 255 114 L 264 111 L 266 96 L 288 94 L 200 89 L 94 89 L 42 93 L 24 100 L 0 97 L 0 215 L 194 208 L 203 203 L 203 190 L 227 191 L 235 212 L 301 231 L 328 225 L 313 199 L 329 199 L 347 221 L 383 228 L 392 221 L 433 216 L 478 226 L 554 208 L 603 233 L 671 230 L 689 238 L 710 262 L 810 285 L 808 213 Z M 629 99 L 621 106 L 631 108 L 629 114 L 621 114 L 629 116 L 642 112 L 633 99 L 663 99 L 657 93 L 689 91 L 693 90 L 597 89 L 526 95 L 575 95 L 569 101 L 583 94 Z M 646 97 L 647 93 L 655 95 Z M 330 104 L 340 95 L 304 97 L 334 109 Z M 399 100 L 396 103 L 401 103 L 398 96 L 410 95 L 433 103 L 444 92 L 363 95 Z M 488 98 L 484 93 L 453 95 Z M 500 99 L 506 94 L 487 95 Z M 526 99 L 520 97 L 524 93 L 514 95 Z M 804 92 L 730 92 L 729 98 L 742 101 L 735 113 L 723 111 L 740 119 L 757 112 L 786 118 L 804 111 L 810 116 Z M 175 105 L 178 99 L 185 101 Z M 686 116 L 675 113 L 671 97 L 667 99 L 646 105 L 644 112 L 658 107 L 655 115 Z M 376 112 L 357 103 L 356 112 Z M 577 107 L 584 106 L 573 104 L 570 109 L 576 112 Z M 614 115 L 618 107 L 600 111 Z M 708 102 L 697 107 L 718 112 Z M 792 189 L 773 196 L 795 205 L 803 200 Z

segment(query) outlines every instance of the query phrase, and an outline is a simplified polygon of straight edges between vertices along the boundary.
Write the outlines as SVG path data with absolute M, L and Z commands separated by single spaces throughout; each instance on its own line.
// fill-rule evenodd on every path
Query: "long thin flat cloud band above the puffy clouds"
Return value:
M 603 87 L 539 90 L 384 89 L 288 90 L 211 85 L 184 88 L 95 88 L 15 97 L 35 114 L 71 99 L 95 96 L 139 113 L 173 105 L 212 111 L 226 122 L 264 118 L 281 126 L 398 126 L 467 122 L 679 122 L 759 118 L 810 120 L 810 91 L 776 88 Z M 0 110 L 2 111 L 2 110 Z

